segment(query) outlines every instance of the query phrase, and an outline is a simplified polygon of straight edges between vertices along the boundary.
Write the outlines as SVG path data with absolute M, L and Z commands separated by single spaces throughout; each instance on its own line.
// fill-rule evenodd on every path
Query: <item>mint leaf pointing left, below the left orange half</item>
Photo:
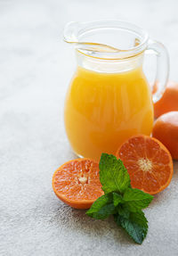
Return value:
M 93 219 L 107 219 L 110 214 L 114 214 L 116 208 L 112 202 L 112 194 L 103 194 L 99 197 L 86 214 Z

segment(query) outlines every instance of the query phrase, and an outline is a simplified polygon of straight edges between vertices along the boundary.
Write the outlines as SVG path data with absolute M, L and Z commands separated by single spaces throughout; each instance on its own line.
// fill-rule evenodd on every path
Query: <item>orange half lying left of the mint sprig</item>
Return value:
M 88 209 L 103 194 L 99 164 L 90 159 L 67 161 L 53 174 L 53 191 L 70 206 Z

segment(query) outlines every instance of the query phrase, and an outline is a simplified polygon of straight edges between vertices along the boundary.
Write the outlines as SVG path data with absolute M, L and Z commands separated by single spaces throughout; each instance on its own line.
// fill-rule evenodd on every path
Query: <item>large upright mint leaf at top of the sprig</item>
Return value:
M 112 154 L 102 153 L 99 163 L 100 180 L 102 190 L 108 194 L 110 192 L 125 192 L 130 186 L 130 177 L 123 162 Z

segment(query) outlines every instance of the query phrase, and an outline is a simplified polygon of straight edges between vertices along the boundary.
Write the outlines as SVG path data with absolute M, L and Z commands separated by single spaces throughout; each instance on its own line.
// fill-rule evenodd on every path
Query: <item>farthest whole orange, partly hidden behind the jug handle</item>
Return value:
M 157 90 L 157 85 L 154 87 L 155 92 Z M 160 100 L 154 104 L 156 118 L 169 111 L 178 111 L 178 83 L 172 81 L 167 83 L 165 93 Z

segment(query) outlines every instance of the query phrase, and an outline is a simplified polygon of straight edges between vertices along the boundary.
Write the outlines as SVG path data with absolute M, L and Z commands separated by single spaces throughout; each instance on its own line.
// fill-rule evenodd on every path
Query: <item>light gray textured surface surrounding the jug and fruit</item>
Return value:
M 178 79 L 177 1 L 0 0 L 0 255 L 177 255 L 178 165 L 155 196 L 148 236 L 132 241 L 112 219 L 97 221 L 60 202 L 53 171 L 71 153 L 62 111 L 74 54 L 61 41 L 67 21 L 124 19 L 150 31 Z

